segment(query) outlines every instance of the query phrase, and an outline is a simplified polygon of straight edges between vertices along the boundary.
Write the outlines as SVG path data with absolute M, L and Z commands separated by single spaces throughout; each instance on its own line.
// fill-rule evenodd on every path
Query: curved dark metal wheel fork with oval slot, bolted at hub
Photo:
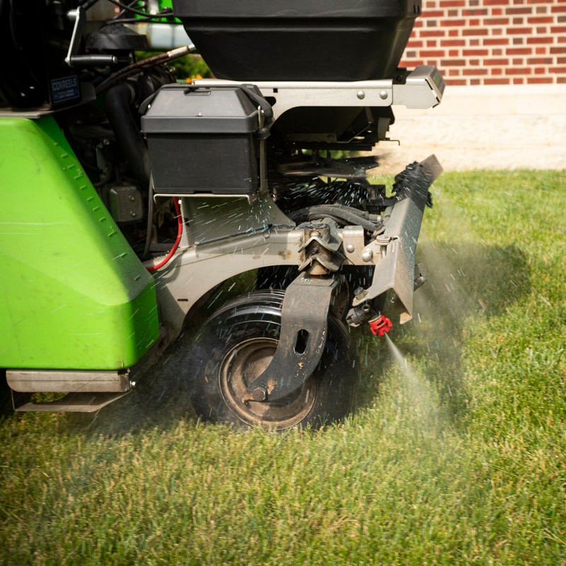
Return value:
M 246 389 L 243 401 L 279 401 L 305 383 L 320 362 L 328 331 L 328 311 L 343 277 L 299 275 L 285 291 L 281 333 L 265 371 Z

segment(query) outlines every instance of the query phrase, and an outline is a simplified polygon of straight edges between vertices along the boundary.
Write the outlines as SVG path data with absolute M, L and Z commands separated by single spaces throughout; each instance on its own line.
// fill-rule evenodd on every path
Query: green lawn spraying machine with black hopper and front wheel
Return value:
M 185 340 L 171 379 L 203 419 L 340 419 L 357 381 L 347 325 L 410 320 L 425 279 L 415 246 L 439 163 L 386 190 L 367 180 L 376 159 L 355 157 L 387 139 L 392 105 L 441 100 L 435 67 L 398 68 L 420 0 L 154 4 L 0 0 L 14 406 L 96 411 Z M 178 83 L 168 63 L 195 48 L 216 78 Z M 257 290 L 194 330 L 244 272 Z

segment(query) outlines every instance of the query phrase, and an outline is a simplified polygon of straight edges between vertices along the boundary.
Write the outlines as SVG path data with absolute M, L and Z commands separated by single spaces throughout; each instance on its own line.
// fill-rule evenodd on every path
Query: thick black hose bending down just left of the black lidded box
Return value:
M 134 89 L 126 83 L 120 83 L 108 89 L 104 105 L 129 168 L 141 185 L 148 187 L 149 151 L 129 108 L 133 100 Z

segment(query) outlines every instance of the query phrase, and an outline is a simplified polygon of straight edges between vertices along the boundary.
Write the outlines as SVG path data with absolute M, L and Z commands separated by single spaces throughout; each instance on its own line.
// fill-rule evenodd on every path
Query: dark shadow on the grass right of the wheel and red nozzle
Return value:
M 422 238 L 417 262 L 427 267 L 427 283 L 415 292 L 414 317 L 395 325 L 390 337 L 425 379 L 439 391 L 442 408 L 458 420 L 468 405 L 463 354 L 473 325 L 506 312 L 528 296 L 530 268 L 514 246 L 432 242 Z M 354 333 L 362 364 L 358 408 L 379 395 L 395 364 L 385 340 Z

